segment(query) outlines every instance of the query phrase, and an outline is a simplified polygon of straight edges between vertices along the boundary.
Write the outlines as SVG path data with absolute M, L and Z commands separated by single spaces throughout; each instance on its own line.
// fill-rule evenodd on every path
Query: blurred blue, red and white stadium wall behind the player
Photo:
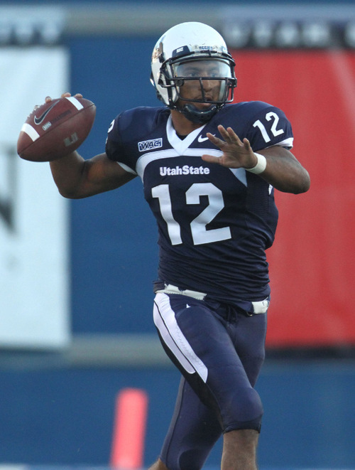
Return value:
M 109 466 L 125 388 L 148 394 L 142 465 L 158 455 L 179 375 L 151 319 L 141 183 L 65 201 L 16 141 L 33 105 L 70 90 L 97 105 L 80 151 L 100 153 L 116 114 L 158 105 L 151 50 L 181 21 L 225 36 L 236 100 L 286 112 L 312 179 L 276 196 L 260 468 L 355 469 L 354 1 L 207 0 L 0 1 L 0 469 Z

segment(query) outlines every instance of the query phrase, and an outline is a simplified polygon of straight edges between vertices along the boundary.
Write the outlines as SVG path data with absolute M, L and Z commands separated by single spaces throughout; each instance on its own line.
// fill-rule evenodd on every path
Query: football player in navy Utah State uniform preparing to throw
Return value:
M 201 469 L 221 436 L 222 469 L 255 470 L 263 407 L 254 386 L 270 301 L 265 250 L 278 222 L 274 188 L 303 193 L 310 178 L 290 152 L 283 111 L 266 102 L 232 104 L 234 60 L 213 28 L 170 28 L 151 65 L 163 106 L 121 112 L 103 154 L 85 160 L 75 151 L 50 167 L 67 198 L 139 176 L 157 221 L 153 319 L 182 379 L 151 470 Z

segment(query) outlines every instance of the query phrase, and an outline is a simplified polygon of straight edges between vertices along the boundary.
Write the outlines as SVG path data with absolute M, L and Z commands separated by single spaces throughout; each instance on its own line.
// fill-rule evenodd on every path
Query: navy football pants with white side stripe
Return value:
M 164 293 L 156 294 L 153 313 L 183 375 L 160 458 L 170 470 L 199 470 L 223 432 L 260 431 L 263 407 L 253 386 L 265 356 L 266 314 Z

